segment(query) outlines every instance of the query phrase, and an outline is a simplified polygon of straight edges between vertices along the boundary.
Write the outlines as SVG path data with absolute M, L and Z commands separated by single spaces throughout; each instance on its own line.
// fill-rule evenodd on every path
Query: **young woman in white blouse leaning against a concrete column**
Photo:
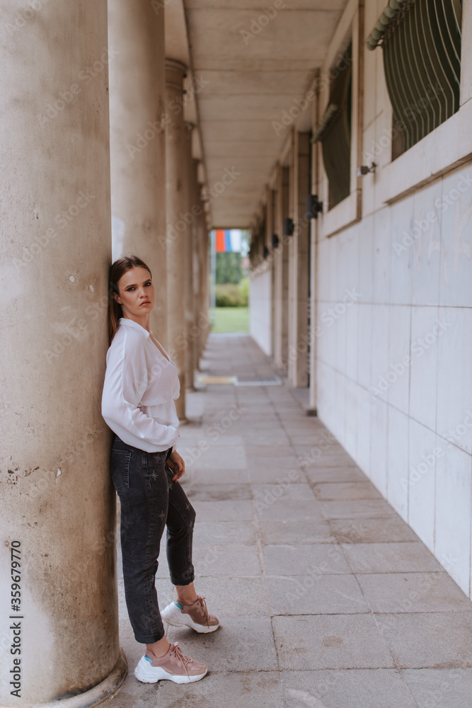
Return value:
M 197 632 L 214 632 L 219 622 L 193 586 L 195 510 L 178 482 L 185 462 L 175 450 L 177 369 L 149 329 L 156 298 L 148 266 L 136 256 L 119 258 L 111 266 L 109 292 L 102 415 L 115 433 L 111 473 L 121 505 L 127 610 L 136 640 L 146 644 L 134 675 L 144 683 L 190 683 L 203 678 L 207 667 L 185 656 L 177 641 L 169 644 L 163 620 Z M 177 600 L 160 613 L 154 581 L 165 526 Z

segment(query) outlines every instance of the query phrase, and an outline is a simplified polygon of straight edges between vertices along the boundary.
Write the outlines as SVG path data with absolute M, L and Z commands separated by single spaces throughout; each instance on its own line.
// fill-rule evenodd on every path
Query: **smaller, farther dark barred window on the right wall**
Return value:
M 329 185 L 328 209 L 350 194 L 352 42 L 332 72 L 328 107 L 311 141 L 321 141 Z

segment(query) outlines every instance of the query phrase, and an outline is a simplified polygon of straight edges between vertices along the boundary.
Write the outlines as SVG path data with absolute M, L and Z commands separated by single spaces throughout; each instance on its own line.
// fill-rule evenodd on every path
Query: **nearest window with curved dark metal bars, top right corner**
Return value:
M 390 0 L 367 40 L 384 52 L 392 160 L 459 110 L 461 15 L 462 0 Z

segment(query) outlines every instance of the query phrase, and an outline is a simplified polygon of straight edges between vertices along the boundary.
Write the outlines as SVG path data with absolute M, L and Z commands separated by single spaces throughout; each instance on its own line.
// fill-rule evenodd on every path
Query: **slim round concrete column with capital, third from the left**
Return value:
M 185 212 L 184 144 L 187 128 L 183 110 L 183 79 L 186 67 L 175 59 L 166 59 L 166 224 L 167 224 L 167 333 L 180 379 L 180 397 L 176 401 L 180 421 L 185 417 Z

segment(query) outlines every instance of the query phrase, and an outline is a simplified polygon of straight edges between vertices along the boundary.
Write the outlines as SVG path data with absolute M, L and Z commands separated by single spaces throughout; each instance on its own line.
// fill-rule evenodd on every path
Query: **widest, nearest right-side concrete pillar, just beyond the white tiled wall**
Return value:
M 310 134 L 294 132 L 292 191 L 294 234 L 289 246 L 289 382 L 305 388 L 308 376 Z

